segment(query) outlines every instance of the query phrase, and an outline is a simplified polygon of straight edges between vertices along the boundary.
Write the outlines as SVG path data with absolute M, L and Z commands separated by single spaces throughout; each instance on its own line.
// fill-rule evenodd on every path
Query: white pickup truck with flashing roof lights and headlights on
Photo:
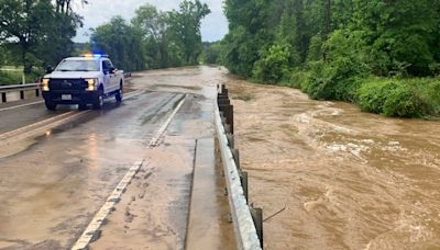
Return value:
M 78 104 L 79 110 L 91 104 L 99 110 L 107 98 L 122 102 L 124 77 L 108 56 L 87 54 L 63 59 L 43 77 L 41 86 L 47 110 L 56 110 L 58 104 Z

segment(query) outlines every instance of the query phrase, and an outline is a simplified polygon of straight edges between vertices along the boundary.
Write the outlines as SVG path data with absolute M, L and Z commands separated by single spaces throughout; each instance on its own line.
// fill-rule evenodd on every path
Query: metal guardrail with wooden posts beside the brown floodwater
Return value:
M 248 204 L 248 173 L 240 169 L 239 151 L 234 149 L 233 106 L 224 86 L 217 98 L 215 116 L 237 247 L 263 249 L 263 211 Z

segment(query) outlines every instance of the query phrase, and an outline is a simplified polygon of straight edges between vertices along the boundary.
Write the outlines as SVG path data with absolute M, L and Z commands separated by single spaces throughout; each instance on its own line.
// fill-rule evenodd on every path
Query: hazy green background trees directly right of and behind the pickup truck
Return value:
M 91 48 L 129 71 L 198 65 L 201 20 L 209 13 L 199 0 L 184 0 L 178 10 L 166 12 L 146 3 L 131 22 L 116 16 L 95 29 Z

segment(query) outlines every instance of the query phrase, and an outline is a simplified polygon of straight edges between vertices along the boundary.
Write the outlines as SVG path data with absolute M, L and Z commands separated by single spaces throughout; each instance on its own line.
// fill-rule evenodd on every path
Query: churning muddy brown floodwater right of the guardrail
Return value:
M 440 123 L 224 82 L 266 249 L 440 249 Z

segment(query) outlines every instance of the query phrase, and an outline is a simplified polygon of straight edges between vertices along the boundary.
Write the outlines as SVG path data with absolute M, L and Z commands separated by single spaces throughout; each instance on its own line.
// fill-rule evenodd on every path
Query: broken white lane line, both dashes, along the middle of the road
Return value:
M 152 138 L 150 141 L 150 146 L 154 147 L 157 145 L 160 137 L 165 133 L 166 128 L 170 124 L 174 116 L 180 110 L 182 105 L 186 100 L 186 95 L 179 104 L 174 109 L 173 113 L 169 115 L 167 121 L 161 126 L 157 130 L 156 136 Z M 91 219 L 90 224 L 87 226 L 86 230 L 82 232 L 81 237 L 76 241 L 72 250 L 87 250 L 90 242 L 96 241 L 99 238 L 100 227 L 106 221 L 107 216 L 113 211 L 114 206 L 121 201 L 122 194 L 125 192 L 127 186 L 131 183 L 134 175 L 139 172 L 142 166 L 145 163 L 145 160 L 135 162 L 127 172 L 124 178 L 111 193 L 111 195 L 107 198 L 107 202 L 99 209 L 99 212 Z M 147 162 L 146 162 L 147 164 Z

